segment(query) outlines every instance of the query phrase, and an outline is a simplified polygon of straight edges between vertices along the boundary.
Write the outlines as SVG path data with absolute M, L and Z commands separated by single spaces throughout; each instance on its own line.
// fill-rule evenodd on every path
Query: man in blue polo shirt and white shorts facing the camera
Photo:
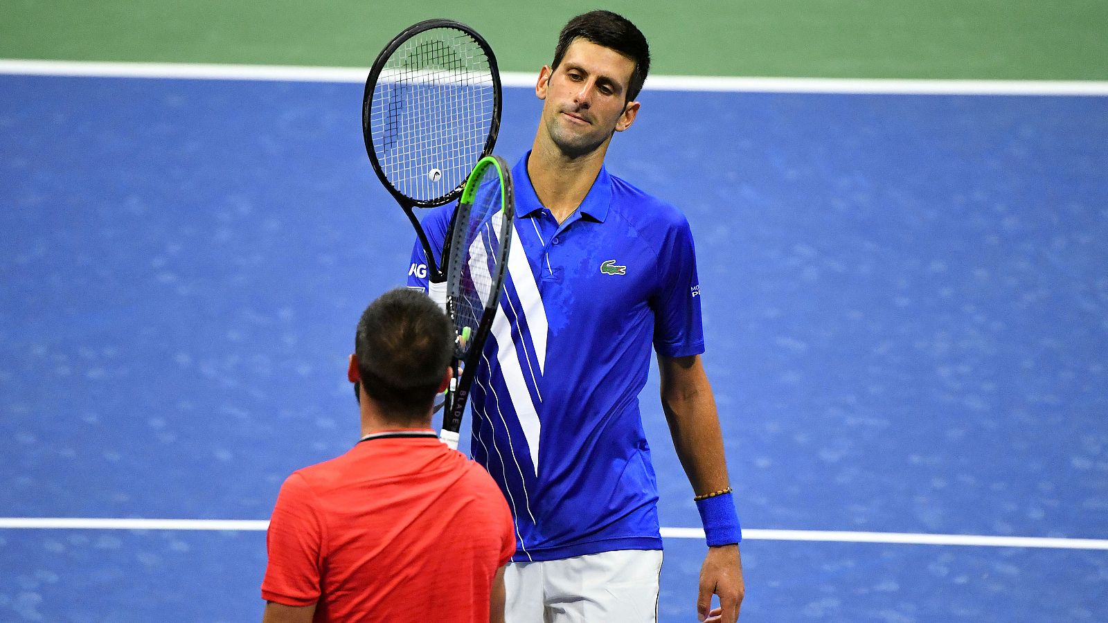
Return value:
M 658 493 L 638 409 L 652 346 L 709 545 L 698 619 L 738 617 L 741 537 L 699 359 L 693 236 L 677 208 L 604 167 L 613 134 L 635 121 L 648 69 L 646 39 L 626 19 L 571 20 L 535 86 L 534 144 L 512 170 L 515 239 L 470 398 L 473 457 L 515 518 L 509 622 L 656 621 Z M 431 248 L 451 212 L 424 221 Z M 428 288 L 423 264 L 417 244 L 409 286 Z

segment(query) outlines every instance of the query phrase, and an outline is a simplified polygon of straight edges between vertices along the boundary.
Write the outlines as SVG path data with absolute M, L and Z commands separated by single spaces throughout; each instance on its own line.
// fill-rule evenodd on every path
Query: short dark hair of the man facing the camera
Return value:
M 554 48 L 554 63 L 551 70 L 557 69 L 565 57 L 565 51 L 575 39 L 585 39 L 597 45 L 612 48 L 616 52 L 635 61 L 635 70 L 630 73 L 627 84 L 627 100 L 632 102 L 643 90 L 646 73 L 650 71 L 650 47 L 646 37 L 630 20 L 612 11 L 589 11 L 570 20 L 557 38 Z

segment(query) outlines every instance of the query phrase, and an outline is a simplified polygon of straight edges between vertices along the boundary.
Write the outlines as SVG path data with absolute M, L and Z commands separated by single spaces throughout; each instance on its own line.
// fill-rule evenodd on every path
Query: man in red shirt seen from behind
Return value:
M 507 503 L 484 468 L 431 430 L 453 336 L 416 290 L 386 293 L 362 314 L 347 372 L 362 437 L 281 486 L 264 623 L 503 621 L 503 565 L 515 553 Z

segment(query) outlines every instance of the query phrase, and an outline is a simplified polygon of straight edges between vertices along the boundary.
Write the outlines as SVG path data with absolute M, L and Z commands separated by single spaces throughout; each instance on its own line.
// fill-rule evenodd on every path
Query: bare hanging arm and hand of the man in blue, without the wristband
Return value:
M 661 408 L 669 423 L 669 432 L 681 467 L 688 476 L 696 496 L 706 496 L 727 490 L 727 461 L 724 457 L 724 436 L 716 411 L 716 399 L 705 374 L 699 355 L 688 357 L 658 356 L 661 379 Z M 724 502 L 717 497 L 716 502 Z M 726 503 L 731 502 L 730 494 Z M 730 511 L 733 514 L 733 507 Z M 707 524 L 714 519 L 704 518 Z M 725 621 L 733 623 L 739 616 L 739 606 L 746 586 L 742 581 L 742 560 L 739 555 L 739 538 L 730 543 L 716 543 L 708 548 L 700 569 L 700 589 L 697 598 L 697 614 L 700 621 Z M 719 540 L 717 538 L 716 540 Z M 730 541 L 726 535 L 722 541 Z M 712 543 L 712 534 L 709 534 Z M 711 595 L 719 596 L 720 607 L 711 609 Z

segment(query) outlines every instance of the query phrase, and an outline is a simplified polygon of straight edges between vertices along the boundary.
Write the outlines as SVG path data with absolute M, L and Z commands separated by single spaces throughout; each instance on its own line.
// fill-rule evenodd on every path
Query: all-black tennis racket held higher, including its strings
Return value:
M 361 108 L 366 152 L 416 227 L 431 282 L 445 279 L 445 268 L 435 263 L 413 208 L 458 198 L 478 161 L 492 153 L 500 110 L 496 57 L 456 21 L 408 27 L 369 71 Z

